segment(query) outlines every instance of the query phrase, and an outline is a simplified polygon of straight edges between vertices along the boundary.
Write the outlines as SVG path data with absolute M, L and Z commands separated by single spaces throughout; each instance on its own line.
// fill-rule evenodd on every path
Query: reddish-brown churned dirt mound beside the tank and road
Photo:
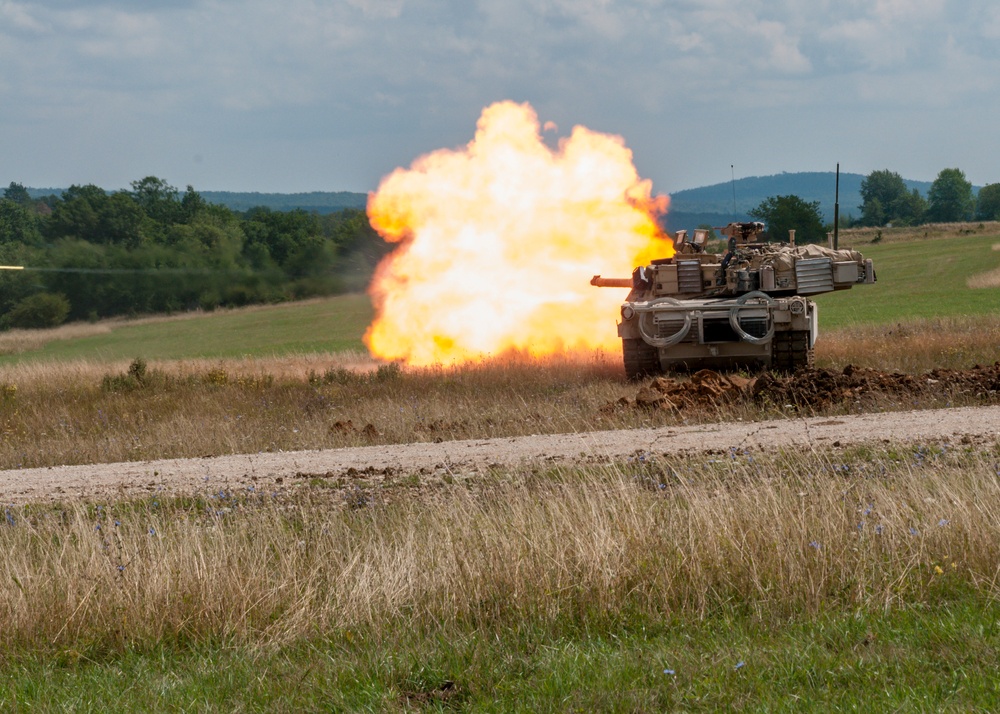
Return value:
M 635 400 L 620 399 L 605 412 L 625 407 L 691 409 L 715 407 L 734 399 L 791 405 L 810 410 L 878 397 L 958 396 L 989 398 L 1000 392 L 1000 362 L 967 370 L 935 369 L 912 375 L 848 365 L 838 372 L 808 369 L 792 375 L 770 372 L 748 379 L 702 370 L 689 379 L 657 377 L 640 387 Z

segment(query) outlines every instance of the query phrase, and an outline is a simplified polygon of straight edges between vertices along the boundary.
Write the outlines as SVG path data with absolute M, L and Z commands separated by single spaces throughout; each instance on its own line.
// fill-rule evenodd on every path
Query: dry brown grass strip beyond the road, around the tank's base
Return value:
M 998 357 L 1000 318 L 916 320 L 827 333 L 819 366 L 902 372 Z M 605 410 L 635 397 L 620 356 L 402 370 L 365 355 L 0 368 L 0 469 L 488 438 L 775 416 L 737 401 L 698 411 Z M 898 400 L 897 400 L 898 401 Z M 942 394 L 924 406 L 958 404 Z M 909 404 L 909 402 L 907 402 Z M 845 407 L 847 408 L 847 407 Z M 872 408 L 896 409 L 891 398 Z

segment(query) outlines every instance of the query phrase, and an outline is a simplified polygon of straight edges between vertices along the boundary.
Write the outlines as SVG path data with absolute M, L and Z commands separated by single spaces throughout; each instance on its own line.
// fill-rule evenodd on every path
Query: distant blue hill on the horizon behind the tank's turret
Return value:
M 862 174 L 840 174 L 840 215 L 858 218 L 861 215 Z M 930 181 L 904 179 L 912 191 L 917 189 L 927 196 Z M 732 182 L 690 188 L 670 195 L 670 211 L 666 217 L 667 229 L 691 230 L 699 225 L 724 226 L 730 221 L 746 221 L 748 211 L 770 196 L 798 196 L 804 201 L 819 201 L 824 220 L 833 221 L 833 204 L 836 196 L 837 175 L 833 171 L 803 171 L 780 173 L 774 176 L 749 176 L 735 182 L 736 203 L 733 204 Z

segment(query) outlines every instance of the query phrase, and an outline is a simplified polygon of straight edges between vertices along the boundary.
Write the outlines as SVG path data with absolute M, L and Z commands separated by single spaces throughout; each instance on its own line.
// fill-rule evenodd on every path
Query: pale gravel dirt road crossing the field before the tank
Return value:
M 1000 406 L 0 471 L 0 499 L 19 504 L 209 489 L 272 491 L 301 479 L 352 478 L 359 472 L 466 474 L 491 466 L 621 459 L 637 452 L 818 449 L 942 439 L 967 443 L 1000 439 Z

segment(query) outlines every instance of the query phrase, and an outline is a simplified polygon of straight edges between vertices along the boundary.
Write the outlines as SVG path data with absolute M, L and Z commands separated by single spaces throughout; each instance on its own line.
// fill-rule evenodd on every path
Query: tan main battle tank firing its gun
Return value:
M 668 369 L 812 366 L 817 308 L 809 295 L 874 283 L 875 270 L 855 250 L 761 240 L 763 223 L 722 229 L 727 252 L 705 251 L 707 230 L 679 231 L 671 258 L 636 268 L 631 278 L 590 281 L 630 288 L 621 307 L 625 374 Z

